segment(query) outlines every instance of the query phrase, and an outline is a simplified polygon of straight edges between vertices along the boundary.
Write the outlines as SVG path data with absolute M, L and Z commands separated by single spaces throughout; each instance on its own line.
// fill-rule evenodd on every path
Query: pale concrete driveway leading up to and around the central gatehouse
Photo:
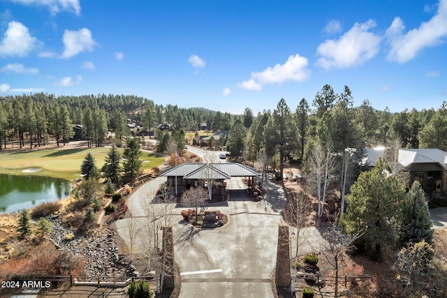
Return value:
M 200 156 L 203 150 L 190 150 Z M 219 151 L 212 151 L 219 156 Z M 222 161 L 222 160 L 221 160 Z M 139 227 L 147 226 L 145 217 L 147 201 L 151 193 L 163 183 L 157 178 L 138 188 L 128 200 L 133 221 Z M 228 181 L 230 201 L 213 204 L 208 210 L 219 209 L 229 216 L 229 222 L 216 230 L 199 230 L 184 225 L 179 215 L 183 209 L 170 204 L 175 239 L 175 260 L 182 274 L 180 298 L 189 297 L 273 297 L 270 278 L 276 265 L 278 225 L 282 223 L 281 210 L 286 203 L 283 189 L 272 181 L 264 184 L 266 199 L 254 202 L 245 191 L 241 178 Z M 156 204 L 163 207 L 163 204 Z M 130 220 L 117 221 L 119 235 L 129 244 L 127 228 Z M 147 230 L 147 229 L 142 229 Z M 308 251 L 315 251 L 319 233 L 310 230 L 314 238 L 309 238 Z M 147 232 L 141 233 L 136 251 L 147 245 Z M 321 238 L 321 237 L 320 237 Z M 302 252 L 300 251 L 300 252 Z

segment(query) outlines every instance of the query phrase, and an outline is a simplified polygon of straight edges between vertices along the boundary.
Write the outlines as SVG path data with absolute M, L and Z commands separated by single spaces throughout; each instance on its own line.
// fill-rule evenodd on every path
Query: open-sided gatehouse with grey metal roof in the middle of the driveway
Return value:
M 168 185 L 177 188 L 177 194 L 191 187 L 212 184 L 212 195 L 219 195 L 225 191 L 226 179 L 247 177 L 253 184 L 259 174 L 253 167 L 240 163 L 182 163 L 170 167 L 161 176 L 168 178 Z

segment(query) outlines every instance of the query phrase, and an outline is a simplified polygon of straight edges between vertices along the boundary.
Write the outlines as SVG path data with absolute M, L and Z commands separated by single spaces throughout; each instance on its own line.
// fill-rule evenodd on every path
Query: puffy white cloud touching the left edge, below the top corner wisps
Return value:
M 0 42 L 0 52 L 4 56 L 26 57 L 34 50 L 37 38 L 29 34 L 29 30 L 20 22 L 11 21 Z

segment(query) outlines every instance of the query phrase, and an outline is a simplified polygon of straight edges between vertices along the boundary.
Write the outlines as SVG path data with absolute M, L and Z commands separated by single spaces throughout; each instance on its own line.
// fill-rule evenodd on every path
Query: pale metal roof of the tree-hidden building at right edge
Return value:
M 386 149 L 367 149 L 363 164 L 374 167 Z M 399 149 L 399 163 L 404 167 L 414 163 L 438 163 L 447 166 L 447 152 L 441 149 Z

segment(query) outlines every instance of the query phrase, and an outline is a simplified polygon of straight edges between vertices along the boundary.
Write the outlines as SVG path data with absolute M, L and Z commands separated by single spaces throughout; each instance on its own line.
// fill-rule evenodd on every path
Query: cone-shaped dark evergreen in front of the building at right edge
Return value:
M 402 246 L 425 240 L 432 244 L 433 230 L 430 211 L 425 195 L 418 181 L 414 181 L 411 190 L 402 202 L 402 219 L 400 221 L 399 237 Z

